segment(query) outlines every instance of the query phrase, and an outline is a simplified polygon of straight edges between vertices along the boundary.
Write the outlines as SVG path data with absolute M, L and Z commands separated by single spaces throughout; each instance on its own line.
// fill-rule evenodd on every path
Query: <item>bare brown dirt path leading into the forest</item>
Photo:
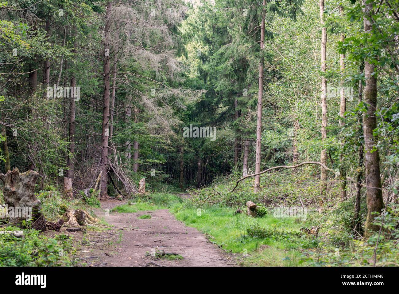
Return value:
M 105 210 L 126 203 L 109 200 L 101 203 L 98 216 L 104 216 Z M 138 217 L 149 214 L 151 218 Z M 167 209 L 139 211 L 137 213 L 111 212 L 105 220 L 113 225 L 113 231 L 121 238 L 116 244 L 117 252 L 97 252 L 94 266 L 234 266 L 235 258 L 209 242 L 204 234 L 195 228 L 187 227 L 176 220 Z M 106 232 L 105 232 L 106 234 Z M 105 235 L 104 234 L 104 235 Z M 98 235 L 97 235 L 98 236 Z M 146 252 L 164 250 L 176 253 L 183 260 L 153 260 Z M 152 263 L 151 263 L 152 262 Z

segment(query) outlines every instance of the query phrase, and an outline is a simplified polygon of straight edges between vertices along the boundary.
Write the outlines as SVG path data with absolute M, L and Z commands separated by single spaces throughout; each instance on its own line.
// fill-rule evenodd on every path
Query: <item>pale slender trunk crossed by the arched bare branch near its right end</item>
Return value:
M 321 50 L 321 71 L 324 74 L 326 72 L 326 45 L 327 45 L 327 28 L 324 23 L 324 0 L 320 0 L 320 22 L 322 25 L 322 50 Z M 322 94 L 321 94 L 321 106 L 322 106 L 322 141 L 327 138 L 327 80 L 322 75 Z M 327 166 L 327 150 L 323 149 L 320 154 L 320 162 Z M 324 197 L 327 191 L 327 171 L 321 168 L 320 175 L 321 182 L 321 196 Z

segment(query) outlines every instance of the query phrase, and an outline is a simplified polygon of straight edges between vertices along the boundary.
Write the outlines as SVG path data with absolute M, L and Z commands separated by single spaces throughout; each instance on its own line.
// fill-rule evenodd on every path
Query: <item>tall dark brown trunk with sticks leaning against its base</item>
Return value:
M 108 199 L 108 178 L 107 169 L 109 165 L 108 160 L 108 138 L 109 138 L 109 30 L 111 27 L 111 14 L 112 2 L 107 3 L 107 11 L 105 16 L 104 26 L 104 94 L 103 94 L 103 136 L 102 136 L 102 154 L 101 154 L 101 199 Z

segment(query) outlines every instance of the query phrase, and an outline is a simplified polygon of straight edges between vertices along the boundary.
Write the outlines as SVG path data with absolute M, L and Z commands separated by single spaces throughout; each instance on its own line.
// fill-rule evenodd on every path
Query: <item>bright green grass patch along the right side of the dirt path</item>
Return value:
M 176 218 L 187 226 L 204 232 L 209 240 L 221 248 L 244 256 L 251 252 L 255 262 L 262 265 L 297 264 L 302 254 L 293 249 L 312 248 L 317 242 L 307 236 L 301 236 L 303 223 L 294 218 L 275 218 L 266 215 L 262 218 L 251 218 L 245 214 L 235 214 L 233 208 L 210 206 L 207 208 L 188 207 L 176 212 Z M 267 230 L 267 238 L 249 236 L 249 228 L 258 227 Z M 271 249 L 259 251 L 260 247 L 271 246 Z M 269 248 L 269 247 L 266 247 Z M 267 252 L 273 251 L 272 255 Z M 285 258 L 285 259 L 284 259 Z M 244 260 L 247 260 L 247 256 Z M 245 261 L 245 265 L 254 262 Z

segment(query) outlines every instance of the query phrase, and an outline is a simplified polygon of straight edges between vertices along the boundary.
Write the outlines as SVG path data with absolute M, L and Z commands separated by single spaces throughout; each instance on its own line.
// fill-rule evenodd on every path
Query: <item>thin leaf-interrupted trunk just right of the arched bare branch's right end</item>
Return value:
M 340 14 L 343 16 L 344 8 L 340 6 Z M 344 33 L 341 33 L 341 42 L 344 42 Z M 344 91 L 344 80 L 345 80 L 345 54 L 340 54 L 340 70 L 341 70 L 341 80 L 340 80 L 340 126 L 343 129 L 345 126 L 345 112 L 346 112 L 346 97 Z M 340 198 L 346 200 L 346 170 L 344 167 L 344 144 L 345 139 L 341 139 L 341 154 L 340 154 Z

